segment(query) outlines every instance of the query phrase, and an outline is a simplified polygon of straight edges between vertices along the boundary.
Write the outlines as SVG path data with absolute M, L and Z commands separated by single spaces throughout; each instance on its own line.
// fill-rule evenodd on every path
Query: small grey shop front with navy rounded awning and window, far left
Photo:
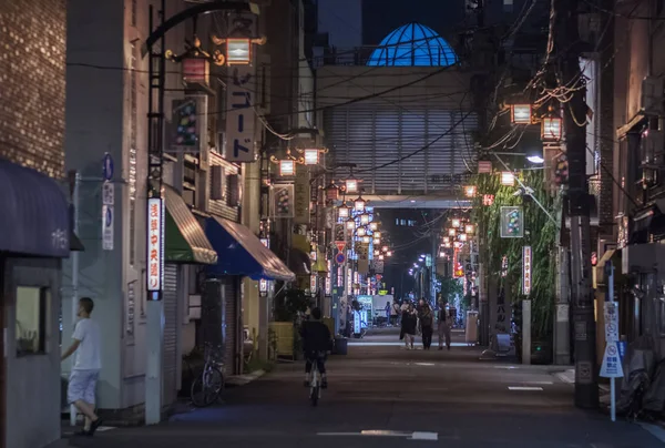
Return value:
M 61 258 L 75 237 L 53 180 L 0 161 L 0 447 L 39 448 L 60 438 Z

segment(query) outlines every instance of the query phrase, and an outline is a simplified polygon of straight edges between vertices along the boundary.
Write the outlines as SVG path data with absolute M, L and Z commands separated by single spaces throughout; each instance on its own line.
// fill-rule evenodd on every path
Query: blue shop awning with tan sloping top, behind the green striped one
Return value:
M 217 252 L 217 263 L 207 267 L 214 275 L 242 275 L 252 279 L 290 282 L 296 275 L 263 245 L 247 227 L 223 217 L 205 220 L 205 233 Z

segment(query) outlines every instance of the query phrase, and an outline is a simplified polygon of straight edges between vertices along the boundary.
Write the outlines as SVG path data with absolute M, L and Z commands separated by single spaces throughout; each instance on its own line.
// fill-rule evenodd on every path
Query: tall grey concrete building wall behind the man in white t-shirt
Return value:
M 140 54 L 147 30 L 149 4 L 131 0 L 68 3 L 66 169 L 86 179 L 81 189 L 80 295 L 95 301 L 93 317 L 102 326 L 102 373 L 99 406 L 122 409 L 145 396 L 145 177 L 147 175 L 147 58 Z M 166 14 L 183 2 L 168 0 Z M 167 34 L 167 48 L 180 52 L 185 28 Z M 180 86 L 177 70 L 167 64 L 166 86 Z M 174 95 L 180 95 L 175 93 Z M 165 99 L 165 116 L 171 100 Z M 114 248 L 102 251 L 101 174 L 104 153 L 115 164 Z M 168 175 L 171 173 L 172 175 Z M 173 184 L 177 170 L 165 169 Z M 181 181 L 182 182 L 182 181 Z M 63 340 L 70 340 L 71 264 L 63 268 Z M 130 292 L 133 291 L 133 294 Z M 133 296 L 133 297 L 132 297 Z M 69 366 L 65 366 L 68 368 Z

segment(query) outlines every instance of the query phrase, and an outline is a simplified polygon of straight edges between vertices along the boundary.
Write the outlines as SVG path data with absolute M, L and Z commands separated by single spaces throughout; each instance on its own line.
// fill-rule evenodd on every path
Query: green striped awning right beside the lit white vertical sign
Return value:
M 164 255 L 168 263 L 215 264 L 217 253 L 205 236 L 196 216 L 182 196 L 171 186 L 164 186 L 165 241 Z

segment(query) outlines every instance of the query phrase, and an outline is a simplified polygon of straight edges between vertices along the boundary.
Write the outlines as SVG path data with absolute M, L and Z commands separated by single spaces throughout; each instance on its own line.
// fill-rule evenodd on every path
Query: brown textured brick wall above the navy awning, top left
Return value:
M 61 177 L 64 169 L 65 1 L 0 4 L 0 156 Z M 49 27 L 43 27 L 49 23 Z

